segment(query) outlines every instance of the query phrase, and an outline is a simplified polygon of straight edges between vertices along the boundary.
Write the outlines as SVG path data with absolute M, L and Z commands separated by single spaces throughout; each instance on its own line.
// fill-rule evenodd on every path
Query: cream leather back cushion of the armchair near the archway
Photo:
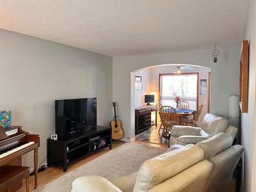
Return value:
M 227 126 L 228 120 L 226 118 L 207 113 L 203 119 L 202 130 L 212 137 L 219 133 L 224 133 Z

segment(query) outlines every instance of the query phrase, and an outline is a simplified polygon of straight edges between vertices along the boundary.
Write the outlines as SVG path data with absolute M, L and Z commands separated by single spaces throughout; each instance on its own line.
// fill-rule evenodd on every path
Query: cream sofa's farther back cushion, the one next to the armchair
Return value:
M 208 159 L 222 152 L 232 145 L 233 139 L 226 133 L 220 133 L 196 145 L 204 150 L 204 159 Z

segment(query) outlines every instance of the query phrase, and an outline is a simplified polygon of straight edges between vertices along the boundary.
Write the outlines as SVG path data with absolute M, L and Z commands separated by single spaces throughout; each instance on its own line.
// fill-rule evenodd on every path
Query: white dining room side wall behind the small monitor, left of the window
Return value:
M 135 75 L 142 76 L 142 90 L 135 90 L 135 106 L 145 105 L 144 95 L 150 94 L 150 69 L 142 69 L 135 72 Z

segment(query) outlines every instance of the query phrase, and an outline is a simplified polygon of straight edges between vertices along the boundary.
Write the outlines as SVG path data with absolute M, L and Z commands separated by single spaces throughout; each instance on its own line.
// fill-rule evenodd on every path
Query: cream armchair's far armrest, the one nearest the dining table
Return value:
M 172 127 L 172 136 L 182 136 L 182 135 L 200 135 L 201 128 L 194 126 L 182 126 L 182 125 L 174 125 Z

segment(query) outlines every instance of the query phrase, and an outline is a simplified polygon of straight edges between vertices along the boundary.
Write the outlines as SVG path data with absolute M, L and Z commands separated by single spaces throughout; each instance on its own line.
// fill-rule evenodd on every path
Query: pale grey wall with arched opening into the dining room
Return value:
M 211 68 L 211 113 L 228 117 L 229 95 L 238 95 L 240 47 L 220 49 L 216 64 L 212 50 L 147 54 L 113 58 L 113 100 L 119 104 L 124 139 L 134 138 L 134 103 L 131 103 L 131 72 L 163 64 L 180 63 Z M 133 75 L 134 76 L 134 75 Z M 133 77 L 132 77 L 133 78 Z

